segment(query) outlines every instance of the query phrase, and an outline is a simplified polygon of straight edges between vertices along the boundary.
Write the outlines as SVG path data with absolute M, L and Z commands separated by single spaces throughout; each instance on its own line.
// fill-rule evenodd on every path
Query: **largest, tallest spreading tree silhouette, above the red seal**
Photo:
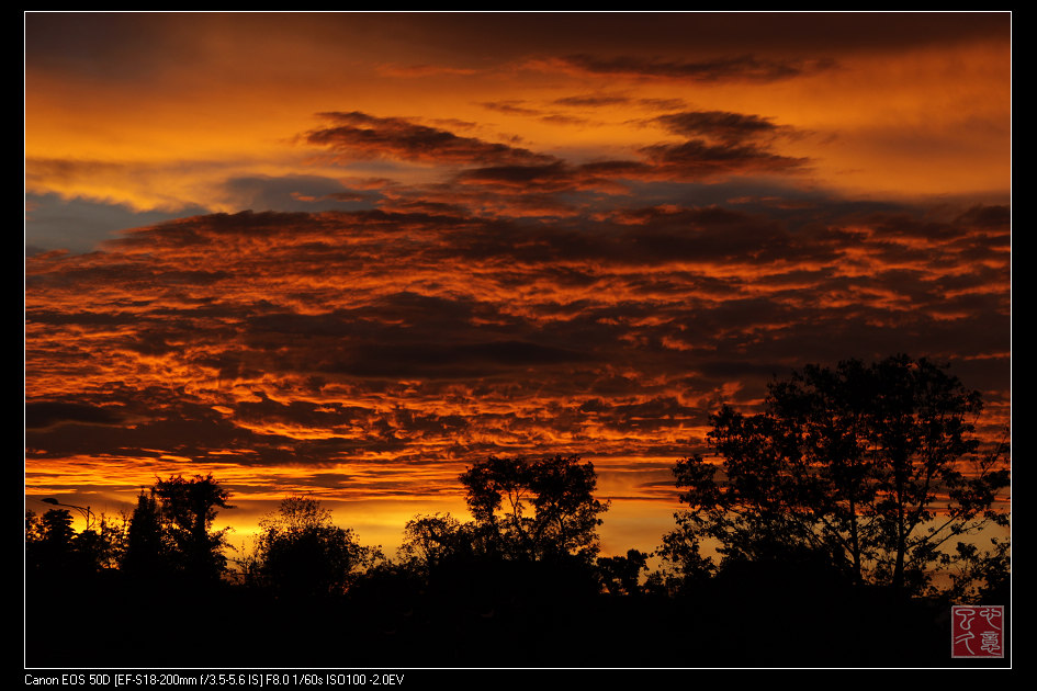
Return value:
M 906 355 L 808 365 L 769 386 L 763 412 L 724 406 L 708 434 L 722 465 L 677 463 L 689 509 L 661 553 L 707 575 L 712 540 L 721 566 L 821 559 L 858 582 L 926 591 L 956 559 L 948 541 L 1008 520 L 993 508 L 1007 445 L 981 452 L 980 395 L 945 369 Z

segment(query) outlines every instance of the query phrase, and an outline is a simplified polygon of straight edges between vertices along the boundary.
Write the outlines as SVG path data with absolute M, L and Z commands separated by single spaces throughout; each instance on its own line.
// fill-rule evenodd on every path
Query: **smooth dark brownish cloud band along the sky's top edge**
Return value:
M 669 70 L 697 73 L 702 68 L 695 66 L 709 65 L 698 56 L 730 54 L 732 46 L 753 45 L 777 56 L 916 48 L 1002 37 L 1011 20 L 1010 12 L 29 12 L 25 60 L 80 81 L 148 84 L 168 69 L 170 55 L 188 68 L 212 69 L 203 61 L 212 49 L 205 36 L 219 35 L 222 46 L 261 55 L 266 42 L 258 36 L 298 33 L 327 52 L 343 45 L 361 52 L 405 48 L 414 67 L 387 68 L 396 73 L 466 75 L 473 60 L 499 65 L 573 52 L 596 55 L 616 46 L 632 56 L 686 56 Z M 745 59 L 764 63 L 762 57 L 733 61 Z M 769 59 L 791 63 L 786 69 L 797 66 L 794 59 Z M 312 64 L 320 67 L 327 69 Z M 762 69 L 766 73 L 755 67 Z

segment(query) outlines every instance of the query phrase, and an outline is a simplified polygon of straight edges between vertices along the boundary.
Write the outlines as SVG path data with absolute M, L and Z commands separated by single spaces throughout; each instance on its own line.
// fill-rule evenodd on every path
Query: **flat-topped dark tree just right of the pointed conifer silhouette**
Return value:
M 174 565 L 196 579 L 218 578 L 227 568 L 223 550 L 230 529 L 211 529 L 219 509 L 234 508 L 227 503 L 230 492 L 212 475 L 195 475 L 192 479 L 170 476 L 159 480 L 155 496 L 161 502 L 164 530 L 170 539 Z

